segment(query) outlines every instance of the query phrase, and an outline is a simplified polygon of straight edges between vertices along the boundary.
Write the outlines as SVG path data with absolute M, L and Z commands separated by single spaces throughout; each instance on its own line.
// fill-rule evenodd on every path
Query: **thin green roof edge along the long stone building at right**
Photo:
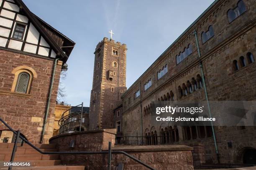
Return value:
M 140 76 L 140 77 L 138 77 L 138 79 L 121 95 L 121 97 L 124 97 L 125 95 L 126 95 L 126 93 L 134 86 L 134 85 L 136 85 L 138 82 L 139 82 L 139 80 L 141 79 L 141 77 L 143 77 L 143 75 L 145 75 L 146 74 L 146 72 L 148 72 L 148 70 L 150 70 L 151 69 L 151 67 L 185 34 L 185 33 L 187 33 L 187 31 L 189 30 L 189 29 L 191 29 L 201 18 L 202 18 L 202 16 L 203 15 L 205 15 L 205 13 L 207 13 L 209 10 L 210 10 L 210 8 L 213 6 L 213 5 L 215 5 L 217 2 L 218 2 L 219 0 L 215 0 L 214 2 L 212 2 L 212 4 L 209 6 L 209 7 L 207 7 L 207 9 L 191 24 L 191 25 L 189 25 L 189 27 L 186 29 L 186 30 L 184 30 L 184 32 L 182 32 L 182 34 L 181 35 L 179 35 L 179 37 L 174 41 L 174 42 L 172 42 L 172 44 L 166 49 L 166 50 L 164 50 L 164 52 L 148 67 L 148 69 L 145 71 L 145 72 L 143 72 L 143 74 Z

